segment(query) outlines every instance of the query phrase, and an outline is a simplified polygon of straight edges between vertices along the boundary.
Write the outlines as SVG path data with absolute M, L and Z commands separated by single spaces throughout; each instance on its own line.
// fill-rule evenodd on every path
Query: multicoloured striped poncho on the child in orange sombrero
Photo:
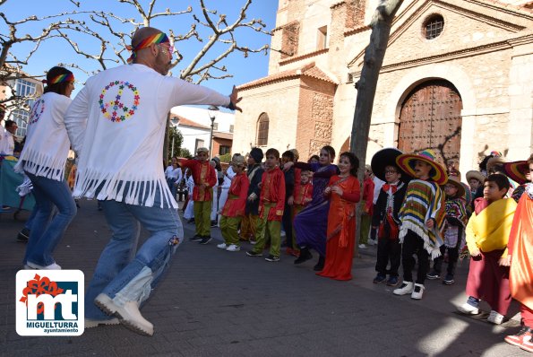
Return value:
M 433 181 L 413 179 L 408 184 L 403 205 L 400 208 L 400 242 L 408 230 L 414 231 L 424 239 L 424 248 L 431 257 L 441 255 L 443 245 L 443 228 L 445 215 L 443 191 Z M 426 227 L 426 222 L 434 219 L 433 229 Z

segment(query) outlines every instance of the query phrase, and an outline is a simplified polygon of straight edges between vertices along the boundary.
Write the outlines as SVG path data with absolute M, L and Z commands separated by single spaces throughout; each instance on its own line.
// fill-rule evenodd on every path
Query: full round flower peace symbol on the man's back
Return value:
M 107 91 L 115 86 L 118 88 L 116 95 L 112 96 L 111 93 L 107 94 Z M 131 105 L 121 101 L 123 99 L 123 95 L 125 94 L 125 89 L 133 92 L 133 103 L 130 103 Z M 139 91 L 132 83 L 115 81 L 107 84 L 102 90 L 99 96 L 99 106 L 104 117 L 113 122 L 123 122 L 125 119 L 133 117 L 135 110 L 137 110 L 139 107 L 140 100 L 141 98 L 139 97 Z

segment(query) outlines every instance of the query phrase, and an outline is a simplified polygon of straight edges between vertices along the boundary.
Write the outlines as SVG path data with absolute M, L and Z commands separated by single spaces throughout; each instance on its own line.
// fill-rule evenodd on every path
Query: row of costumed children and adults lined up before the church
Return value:
M 207 244 L 216 174 L 207 164 L 208 152 L 197 153 L 196 160 L 183 162 L 194 183 L 196 234 L 190 240 Z M 295 149 L 279 155 L 272 148 L 262 162 L 262 150 L 254 148 L 247 168 L 245 157 L 236 154 L 225 173 L 227 199 L 218 207 L 224 242 L 217 247 L 235 252 L 243 240 L 250 241 L 253 248 L 246 255 L 263 257 L 270 244 L 269 262 L 279 261 L 285 247 L 297 257 L 296 265 L 312 259 L 313 249 L 319 256 L 317 275 L 350 280 L 356 207 L 363 200 L 357 244 L 377 244 L 374 283 L 396 287 L 394 295 L 420 300 L 426 279 L 455 283 L 458 261 L 469 252 L 469 298 L 458 310 L 478 314 L 484 300 L 491 307 L 487 321 L 499 325 L 512 298 L 519 300 L 522 327 L 505 341 L 533 352 L 533 155 L 515 162 L 498 155 L 491 152 L 481 170 L 470 170 L 466 185 L 458 170 L 436 161 L 432 150 L 415 154 L 386 148 L 365 166 L 361 185 L 359 161 L 351 152 L 341 153 L 334 164 L 331 146 L 307 162 L 298 161 Z

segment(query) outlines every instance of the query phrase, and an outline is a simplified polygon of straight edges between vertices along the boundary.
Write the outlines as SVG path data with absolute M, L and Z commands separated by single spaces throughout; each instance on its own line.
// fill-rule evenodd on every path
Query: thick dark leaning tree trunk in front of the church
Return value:
M 365 173 L 366 147 L 370 132 L 372 109 L 374 107 L 375 89 L 391 34 L 392 20 L 402 3 L 403 0 L 383 0 L 375 10 L 372 22 L 370 22 L 372 33 L 370 35 L 370 43 L 365 49 L 361 78 L 356 83 L 357 101 L 350 140 L 350 152 L 354 152 L 360 162 L 358 171 L 360 182 L 363 182 Z M 359 204 L 356 223 L 356 256 L 361 231 L 362 209 L 363 205 Z

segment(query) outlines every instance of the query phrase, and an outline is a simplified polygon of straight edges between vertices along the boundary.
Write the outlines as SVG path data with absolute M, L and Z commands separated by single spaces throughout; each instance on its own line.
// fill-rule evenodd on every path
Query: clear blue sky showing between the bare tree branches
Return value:
M 8 0 L 4 5 L 0 6 L 0 12 L 5 13 L 8 20 L 12 22 L 24 19 L 33 14 L 41 17 L 61 12 L 90 10 L 113 13 L 123 18 L 134 17 L 136 20 L 140 21 L 140 16 L 136 13 L 131 4 L 121 4 L 118 0 L 79 1 L 82 5 L 81 8 L 76 8 L 68 0 Z M 144 9 L 147 9 L 150 1 L 140 0 L 140 3 Z M 193 7 L 193 13 L 200 14 L 199 4 L 199 0 L 157 0 L 154 13 L 165 11 L 166 8 L 169 8 L 172 12 L 179 12 L 185 10 L 188 5 L 191 5 Z M 228 23 L 231 23 L 236 19 L 236 15 L 240 11 L 242 5 L 245 4 L 245 0 L 206 0 L 205 4 L 208 8 L 217 10 L 218 13 L 227 14 Z M 275 27 L 277 7 L 277 0 L 254 0 L 248 9 L 246 19 L 251 20 L 260 18 L 266 24 L 265 30 L 272 30 Z M 117 45 L 119 43 L 117 39 L 113 39 L 108 30 L 91 22 L 88 15 L 82 16 L 91 29 L 97 30 L 101 36 L 109 39 L 112 44 Z M 80 18 L 80 15 L 75 17 Z M 199 17 L 201 17 L 201 14 Z M 218 17 L 214 18 L 214 20 L 217 19 Z M 164 31 L 173 30 L 178 34 L 185 33 L 193 22 L 192 15 L 185 14 L 172 17 L 158 17 L 155 18 L 150 25 Z M 27 24 L 20 25 L 17 33 L 19 37 L 26 33 L 35 36 L 40 33 L 42 28 L 42 23 L 28 22 Z M 133 29 L 133 26 L 128 23 L 121 24 L 116 22 L 116 28 L 122 28 L 123 31 L 129 33 Z M 198 25 L 197 29 L 201 31 L 202 26 Z M 0 33 L 7 33 L 7 28 L 1 20 Z M 238 30 L 235 36 L 237 43 L 240 46 L 247 46 L 248 48 L 260 48 L 264 44 L 270 45 L 271 42 L 270 36 L 252 29 Z M 77 42 L 80 48 L 87 48 L 90 53 L 98 53 L 99 41 L 96 41 L 89 35 L 80 35 L 79 33 L 71 32 L 71 38 Z M 202 46 L 203 44 L 195 39 L 176 43 L 176 47 L 180 50 L 184 59 L 172 70 L 174 75 L 177 75 L 185 65 L 188 65 L 191 62 Z M 15 55 L 23 57 L 30 51 L 31 47 L 32 46 L 30 46 L 29 43 L 15 44 L 12 51 Z M 215 48 L 215 51 L 212 54 L 208 54 L 208 56 L 205 57 L 206 60 L 218 56 L 220 49 L 221 48 Z M 108 57 L 116 58 L 113 53 L 110 53 Z M 205 60 L 202 62 L 205 62 Z M 87 59 L 76 54 L 73 51 L 73 48 L 71 48 L 64 39 L 49 39 L 45 41 L 39 50 L 30 58 L 30 63 L 25 66 L 25 71 L 32 75 L 44 74 L 47 69 L 58 63 L 75 63 L 88 72 L 101 70 L 101 66 L 94 59 Z M 229 93 L 233 84 L 238 85 L 247 83 L 265 76 L 268 70 L 268 56 L 264 56 L 264 54 L 251 54 L 249 57 L 245 58 L 241 52 L 234 52 L 229 55 L 229 57 L 225 58 L 221 62 L 221 65 L 227 67 L 228 74 L 232 74 L 233 78 L 209 80 L 207 82 L 202 82 L 202 85 L 210 87 L 216 91 Z M 116 66 L 116 64 L 107 63 L 107 66 L 112 67 Z M 88 76 L 87 74 L 83 74 L 82 71 L 75 69 L 73 69 L 73 73 L 76 80 L 81 83 L 83 83 Z M 77 87 L 77 90 L 79 90 L 81 84 L 77 84 Z

